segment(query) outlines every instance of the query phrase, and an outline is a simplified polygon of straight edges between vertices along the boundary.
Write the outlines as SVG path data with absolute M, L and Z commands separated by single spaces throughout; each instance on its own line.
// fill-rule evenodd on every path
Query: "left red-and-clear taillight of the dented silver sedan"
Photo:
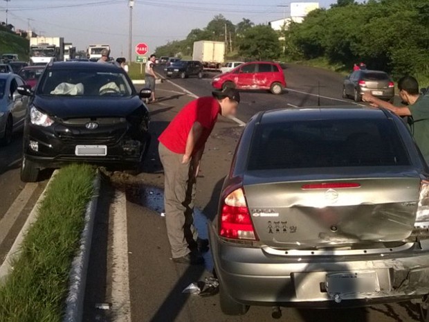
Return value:
M 237 240 L 257 240 L 243 188 L 238 188 L 223 200 L 219 235 Z

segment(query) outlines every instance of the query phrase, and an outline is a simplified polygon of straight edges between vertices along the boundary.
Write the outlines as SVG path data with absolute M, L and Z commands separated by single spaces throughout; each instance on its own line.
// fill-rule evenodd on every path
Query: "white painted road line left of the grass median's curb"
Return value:
M 35 192 L 37 184 L 26 184 L 24 189 L 21 190 L 17 199 L 10 205 L 8 211 L 4 214 L 0 220 L 0 244 L 6 239 L 10 229 L 17 221 L 19 215 L 24 210 L 24 207 L 30 200 L 31 196 Z

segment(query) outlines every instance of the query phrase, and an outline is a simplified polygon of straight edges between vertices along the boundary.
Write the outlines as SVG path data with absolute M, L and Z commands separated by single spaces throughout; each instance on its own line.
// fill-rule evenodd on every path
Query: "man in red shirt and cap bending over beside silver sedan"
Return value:
M 174 262 L 200 265 L 203 258 L 194 250 L 195 184 L 206 141 L 217 116 L 235 116 L 239 92 L 226 88 L 212 96 L 197 98 L 185 105 L 159 136 L 163 163 L 165 222 Z

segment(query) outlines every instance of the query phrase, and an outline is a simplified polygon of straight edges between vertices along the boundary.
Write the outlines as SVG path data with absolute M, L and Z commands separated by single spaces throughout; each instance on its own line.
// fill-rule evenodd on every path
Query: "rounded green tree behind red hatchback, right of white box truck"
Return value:
M 246 30 L 239 39 L 239 54 L 256 60 L 274 60 L 282 48 L 279 35 L 271 26 L 257 25 Z

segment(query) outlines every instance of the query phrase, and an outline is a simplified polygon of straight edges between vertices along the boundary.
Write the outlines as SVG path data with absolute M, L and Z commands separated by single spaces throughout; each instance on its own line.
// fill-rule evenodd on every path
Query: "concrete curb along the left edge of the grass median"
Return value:
M 22 226 L 21 231 L 19 231 L 19 234 L 17 235 L 17 238 L 15 239 L 15 242 L 12 244 L 12 247 L 10 247 L 10 250 L 8 251 L 8 254 L 6 255 L 6 258 L 3 260 L 3 264 L 0 266 L 0 284 L 6 280 L 8 275 L 10 274 L 10 271 L 12 271 L 12 262 L 15 258 L 19 256 L 21 253 L 21 244 L 24 241 L 24 237 L 30 229 L 30 227 L 36 222 L 37 217 L 39 217 L 39 206 L 43 202 L 43 200 L 46 197 L 46 191 L 48 191 L 49 186 L 51 186 L 51 182 L 55 175 L 57 175 L 58 170 L 55 170 L 53 172 L 53 175 L 51 179 L 49 179 L 48 184 L 46 184 L 46 187 L 43 190 L 43 193 L 39 196 L 39 199 L 37 199 L 37 202 L 33 209 L 31 210 L 30 214 L 27 217 L 26 222 L 24 223 L 24 226 Z

